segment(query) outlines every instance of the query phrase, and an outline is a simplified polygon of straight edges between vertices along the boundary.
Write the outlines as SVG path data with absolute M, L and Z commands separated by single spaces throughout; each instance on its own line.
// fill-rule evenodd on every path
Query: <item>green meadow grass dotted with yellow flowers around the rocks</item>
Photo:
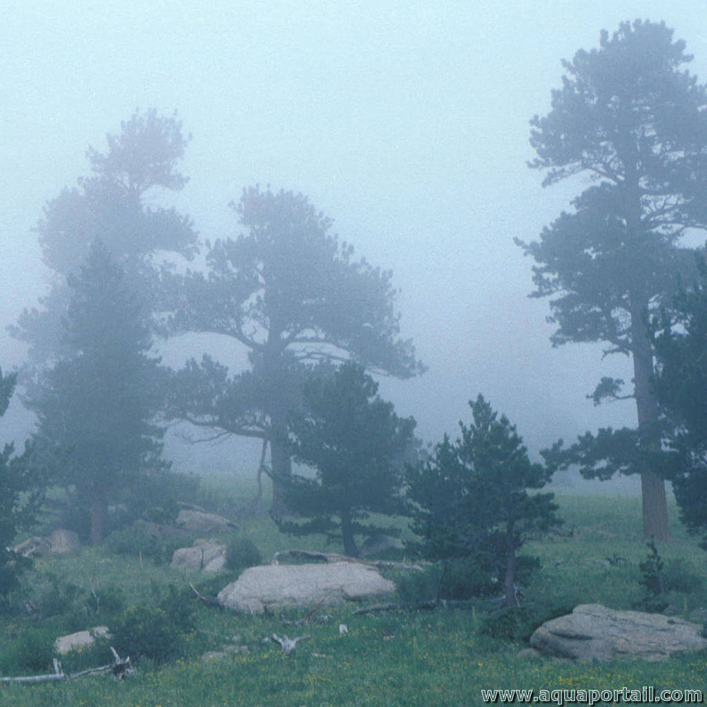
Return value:
M 601 602 L 619 609 L 633 608 L 643 597 L 638 562 L 647 548 L 641 534 L 641 508 L 636 498 L 560 495 L 561 513 L 572 537 L 552 535 L 527 546 L 542 559 L 542 569 L 526 588 L 525 601 L 542 609 L 559 604 Z M 676 509 L 671 509 L 677 518 Z M 264 556 L 278 549 L 324 549 L 322 539 L 291 539 L 277 533 L 269 520 L 243 524 Z M 686 575 L 703 580 L 689 591 L 674 591 L 670 602 L 691 618 L 707 607 L 707 554 L 677 522 L 672 542 L 662 544 L 666 563 L 679 561 Z M 329 550 L 337 550 L 329 547 Z M 625 561 L 605 565 L 607 558 Z M 86 550 L 73 558 L 40 563 L 38 572 L 51 570 L 74 583 L 119 584 L 131 602 L 148 601 L 153 583 L 183 583 L 182 573 L 167 566 L 143 566 L 132 557 L 105 556 Z M 573 663 L 526 658 L 523 645 L 500 641 L 480 632 L 482 617 L 475 612 L 444 610 L 389 612 L 354 616 L 349 605 L 335 611 L 324 624 L 283 626 L 279 617 L 238 616 L 197 605 L 199 631 L 195 648 L 216 649 L 233 642 L 245 653 L 205 664 L 198 655 L 155 668 L 142 665 L 124 683 L 105 677 L 86 677 L 66 684 L 1 686 L 0 704 L 13 706 L 406 706 L 425 707 L 481 704 L 481 688 L 528 689 L 704 689 L 704 655 L 686 655 L 660 664 L 634 662 Z M 300 612 L 301 613 L 301 612 Z M 321 612 L 319 612 L 321 613 Z M 296 614 L 288 614 L 294 617 Z M 339 623 L 349 633 L 339 635 Z M 0 623 L 6 644 L 29 626 L 13 619 Z M 309 633 L 295 653 L 282 655 L 277 645 L 264 642 L 271 633 L 290 636 Z M 0 649 L 1 650 L 1 649 Z

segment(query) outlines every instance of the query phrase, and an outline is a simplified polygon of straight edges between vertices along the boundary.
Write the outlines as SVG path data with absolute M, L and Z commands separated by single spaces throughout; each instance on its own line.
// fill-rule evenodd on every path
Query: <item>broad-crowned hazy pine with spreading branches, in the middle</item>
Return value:
M 208 356 L 190 361 L 175 378 L 170 414 L 267 440 L 274 477 L 286 479 L 287 414 L 301 406 L 306 366 L 352 358 L 399 378 L 423 367 L 399 337 L 392 273 L 354 259 L 306 197 L 250 187 L 231 206 L 245 233 L 209 248 L 206 274 L 173 276 L 171 329 L 230 337 L 247 349 L 250 369 L 229 376 Z M 277 481 L 274 510 L 284 510 Z

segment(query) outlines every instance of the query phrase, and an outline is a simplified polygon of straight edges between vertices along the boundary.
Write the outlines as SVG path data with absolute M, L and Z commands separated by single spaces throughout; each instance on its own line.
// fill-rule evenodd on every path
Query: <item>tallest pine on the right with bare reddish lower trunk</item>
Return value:
M 544 186 L 580 174 L 594 184 L 539 241 L 516 241 L 537 262 L 532 296 L 552 298 L 553 345 L 600 341 L 605 355 L 631 356 L 632 391 L 602 378 L 589 397 L 635 398 L 638 443 L 649 449 L 659 414 L 648 312 L 670 308 L 680 277 L 694 273 L 692 253 L 679 245 L 684 230 L 707 228 L 707 89 L 684 69 L 692 57 L 672 35 L 664 23 L 621 23 L 611 37 L 602 31 L 598 49 L 563 62 L 551 111 L 531 121 L 530 166 L 545 170 Z M 597 445 L 585 473 L 595 461 L 600 476 L 612 470 L 598 453 L 607 441 L 611 451 L 612 434 L 575 445 Z M 641 472 L 645 537 L 666 539 L 662 479 L 641 464 L 622 470 Z

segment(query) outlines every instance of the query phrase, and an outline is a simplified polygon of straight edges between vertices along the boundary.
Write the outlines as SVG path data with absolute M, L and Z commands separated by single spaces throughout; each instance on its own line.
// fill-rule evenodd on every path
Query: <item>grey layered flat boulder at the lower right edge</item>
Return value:
M 580 604 L 571 614 L 546 621 L 530 636 L 544 655 L 575 660 L 639 658 L 656 662 L 683 650 L 706 650 L 702 626 L 662 614 L 622 612 Z

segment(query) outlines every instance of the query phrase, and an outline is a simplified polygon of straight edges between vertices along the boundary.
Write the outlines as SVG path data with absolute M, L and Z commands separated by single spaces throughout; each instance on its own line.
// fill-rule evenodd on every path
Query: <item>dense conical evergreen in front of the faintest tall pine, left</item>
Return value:
M 27 402 L 39 419 L 38 448 L 62 455 L 53 480 L 76 487 L 90 512 L 91 541 L 100 543 L 108 501 L 140 503 L 130 489 L 141 474 L 167 467 L 163 431 L 153 423 L 164 376 L 146 353 L 148 312 L 101 243 L 68 288 L 63 342 L 74 353 L 30 387 Z

